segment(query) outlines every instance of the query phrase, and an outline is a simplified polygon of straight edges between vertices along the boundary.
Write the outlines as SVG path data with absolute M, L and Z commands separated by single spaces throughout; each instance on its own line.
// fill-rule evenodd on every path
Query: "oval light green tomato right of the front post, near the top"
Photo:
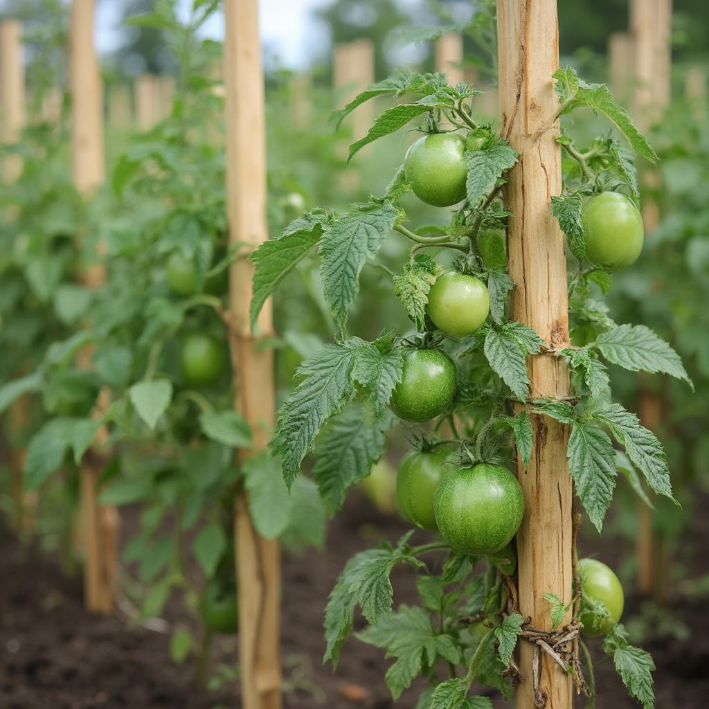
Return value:
M 642 216 L 620 192 L 601 192 L 581 208 L 586 256 L 609 269 L 634 264 L 642 251 Z

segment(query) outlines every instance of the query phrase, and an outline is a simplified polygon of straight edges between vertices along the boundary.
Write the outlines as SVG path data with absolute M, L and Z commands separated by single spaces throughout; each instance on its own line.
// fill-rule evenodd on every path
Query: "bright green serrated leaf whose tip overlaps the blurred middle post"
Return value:
M 306 215 L 307 216 L 307 215 Z M 281 281 L 300 263 L 320 241 L 323 220 L 316 218 L 298 221 L 300 228 L 291 228 L 276 240 L 264 241 L 249 257 L 256 264 L 252 281 L 253 294 L 249 316 L 251 327 Z

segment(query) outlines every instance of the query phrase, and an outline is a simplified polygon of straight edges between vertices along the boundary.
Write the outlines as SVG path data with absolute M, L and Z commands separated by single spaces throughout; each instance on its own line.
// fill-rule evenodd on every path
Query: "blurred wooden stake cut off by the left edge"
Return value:
M 0 141 L 13 144 L 25 125 L 25 70 L 22 63 L 22 28 L 18 21 L 0 23 Z M 4 182 L 15 182 L 22 169 L 18 155 L 5 157 Z

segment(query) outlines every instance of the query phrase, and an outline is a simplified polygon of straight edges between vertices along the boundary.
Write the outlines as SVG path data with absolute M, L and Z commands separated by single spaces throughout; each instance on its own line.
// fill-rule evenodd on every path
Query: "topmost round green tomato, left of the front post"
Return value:
M 465 141 L 455 133 L 430 133 L 419 138 L 403 159 L 406 179 L 421 201 L 448 207 L 464 199 Z

